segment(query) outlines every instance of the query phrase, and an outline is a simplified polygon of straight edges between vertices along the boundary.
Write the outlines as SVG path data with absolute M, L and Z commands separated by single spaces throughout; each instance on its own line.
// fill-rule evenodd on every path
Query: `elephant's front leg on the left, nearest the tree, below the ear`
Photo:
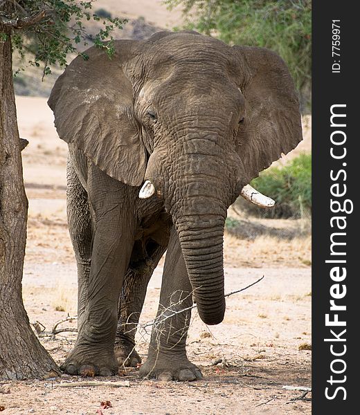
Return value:
M 61 365 L 71 375 L 118 373 L 114 354 L 118 299 L 134 243 L 134 212 L 127 205 L 131 199 L 125 185 L 102 178 L 101 187 L 89 192 L 95 226 L 87 302 L 75 347 Z

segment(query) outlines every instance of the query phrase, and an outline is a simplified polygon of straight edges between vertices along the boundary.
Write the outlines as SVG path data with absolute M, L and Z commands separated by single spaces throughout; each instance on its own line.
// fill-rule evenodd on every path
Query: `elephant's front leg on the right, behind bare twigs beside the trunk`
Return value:
M 149 353 L 140 369 L 141 376 L 160 380 L 197 380 L 200 369 L 186 356 L 190 325 L 192 287 L 177 233 L 172 229 L 165 258 L 159 309 L 152 328 Z M 186 311 L 183 311 L 186 310 Z

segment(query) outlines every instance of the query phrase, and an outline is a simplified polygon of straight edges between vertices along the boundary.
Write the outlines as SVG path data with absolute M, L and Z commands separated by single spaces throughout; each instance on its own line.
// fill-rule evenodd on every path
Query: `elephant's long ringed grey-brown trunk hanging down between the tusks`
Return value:
M 186 154 L 179 162 L 165 206 L 177 229 L 201 320 L 219 324 L 225 313 L 223 243 L 229 174 L 226 167 L 214 174 L 211 157 Z

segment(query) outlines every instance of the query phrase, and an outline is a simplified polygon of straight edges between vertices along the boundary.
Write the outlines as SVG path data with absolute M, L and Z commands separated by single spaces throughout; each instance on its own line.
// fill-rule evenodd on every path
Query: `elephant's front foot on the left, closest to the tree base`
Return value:
M 73 349 L 60 369 L 69 375 L 114 376 L 118 374 L 118 362 L 114 351 L 94 352 L 92 349 Z

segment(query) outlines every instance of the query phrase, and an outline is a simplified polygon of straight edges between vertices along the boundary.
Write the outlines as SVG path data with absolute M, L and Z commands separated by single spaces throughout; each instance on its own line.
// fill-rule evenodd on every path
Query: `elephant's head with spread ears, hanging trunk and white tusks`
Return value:
M 217 324 L 226 210 L 240 192 L 257 201 L 244 186 L 301 140 L 294 83 L 270 50 L 194 32 L 115 47 L 111 59 L 89 49 L 57 80 L 55 126 L 109 176 L 163 199 L 199 315 Z

